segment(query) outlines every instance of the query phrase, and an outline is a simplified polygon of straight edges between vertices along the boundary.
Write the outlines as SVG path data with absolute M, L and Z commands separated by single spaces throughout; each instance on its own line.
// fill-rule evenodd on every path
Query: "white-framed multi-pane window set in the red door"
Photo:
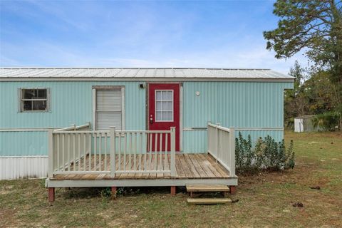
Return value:
M 173 121 L 173 90 L 155 90 L 155 121 Z

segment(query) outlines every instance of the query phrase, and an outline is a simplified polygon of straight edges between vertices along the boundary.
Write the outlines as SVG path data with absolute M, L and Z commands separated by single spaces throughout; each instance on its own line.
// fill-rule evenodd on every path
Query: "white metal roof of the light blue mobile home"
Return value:
M 227 68 L 0 68 L 0 81 L 294 81 L 269 69 Z

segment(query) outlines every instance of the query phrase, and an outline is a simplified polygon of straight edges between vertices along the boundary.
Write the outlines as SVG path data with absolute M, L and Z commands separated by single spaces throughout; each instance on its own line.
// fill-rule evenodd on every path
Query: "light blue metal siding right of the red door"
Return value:
M 206 127 L 207 121 L 224 127 L 283 128 L 284 89 L 293 83 L 261 82 L 185 82 L 183 83 L 183 126 Z M 196 92 L 199 95 L 196 95 Z M 284 138 L 283 131 L 242 131 L 255 141 L 271 135 L 275 140 Z M 185 131 L 185 152 L 205 152 L 207 133 Z

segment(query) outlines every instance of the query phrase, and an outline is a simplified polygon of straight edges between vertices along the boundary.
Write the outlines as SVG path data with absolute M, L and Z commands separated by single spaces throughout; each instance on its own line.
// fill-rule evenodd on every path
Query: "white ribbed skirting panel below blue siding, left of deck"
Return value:
M 0 157 L 0 180 L 48 176 L 47 156 Z

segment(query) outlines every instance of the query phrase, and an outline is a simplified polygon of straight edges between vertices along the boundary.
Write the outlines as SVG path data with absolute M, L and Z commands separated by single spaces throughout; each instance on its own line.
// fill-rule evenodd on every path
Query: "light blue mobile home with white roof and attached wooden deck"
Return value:
M 234 138 L 282 140 L 293 84 L 268 69 L 1 68 L 0 179 L 236 186 Z

